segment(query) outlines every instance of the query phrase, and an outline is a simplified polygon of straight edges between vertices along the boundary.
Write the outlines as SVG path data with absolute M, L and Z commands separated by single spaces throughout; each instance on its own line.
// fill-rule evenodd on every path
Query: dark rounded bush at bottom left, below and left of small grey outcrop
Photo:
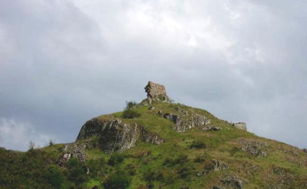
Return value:
M 47 182 L 57 189 L 59 189 L 65 181 L 61 168 L 57 165 L 49 165 L 45 177 Z

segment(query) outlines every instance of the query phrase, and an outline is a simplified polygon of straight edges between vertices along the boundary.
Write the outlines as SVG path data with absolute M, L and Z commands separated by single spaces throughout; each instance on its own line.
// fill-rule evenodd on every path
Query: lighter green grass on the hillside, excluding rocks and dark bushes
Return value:
M 83 184 L 83 188 L 91 189 L 93 186 L 102 188 L 101 183 L 105 182 L 114 172 L 125 172 L 129 175 L 131 179 L 129 189 L 145 187 L 149 182 L 154 185 L 154 188 L 180 189 L 187 186 L 191 189 L 208 189 L 212 186 L 218 186 L 225 174 L 238 175 L 246 181 L 245 189 L 262 189 L 268 188 L 263 180 L 268 179 L 268 174 L 274 167 L 297 174 L 296 183 L 290 183 L 289 187 L 296 188 L 298 183 L 303 183 L 307 179 L 307 156 L 295 147 L 236 129 L 206 110 L 173 103 L 155 103 L 153 106 L 154 110 L 149 110 L 149 106 L 131 107 L 140 115 L 140 117 L 132 119 L 123 119 L 123 112 L 97 117 L 101 121 L 121 119 L 125 124 L 142 125 L 148 131 L 164 138 L 165 142 L 160 145 L 138 142 L 134 148 L 120 153 L 124 159 L 115 165 L 107 163 L 111 155 L 103 153 L 97 148 L 86 150 L 86 162 L 93 159 L 100 163 L 97 165 L 97 173 Z M 156 111 L 161 110 L 163 113 L 178 114 L 175 109 L 178 106 L 189 113 L 194 112 L 206 116 L 211 120 L 212 126 L 219 126 L 222 129 L 202 131 L 198 128 L 192 128 L 182 133 L 174 131 L 171 128 L 174 123 L 160 118 Z M 237 142 L 239 139 L 267 142 L 269 144 L 269 147 L 266 148 L 268 156 L 257 158 L 247 154 L 241 150 L 242 146 Z M 205 144 L 206 147 L 190 148 L 194 141 Z M 56 159 L 61 154 L 59 149 L 62 146 L 63 144 L 56 144 L 42 148 L 42 150 Z M 297 157 L 294 157 L 291 153 L 294 150 L 298 152 Z M 182 157 L 183 155 L 185 155 L 185 158 Z M 179 157 L 183 160 L 178 160 Z M 203 159 L 195 161 L 199 157 Z M 171 163 L 165 164 L 167 159 Z M 206 163 L 213 159 L 218 159 L 220 162 L 227 164 L 229 169 L 211 171 L 209 174 L 197 176 L 197 172 L 204 170 Z M 146 180 L 145 176 L 150 171 L 159 174 L 161 177 L 153 177 L 154 179 L 150 181 Z M 278 177 L 272 179 L 278 179 Z

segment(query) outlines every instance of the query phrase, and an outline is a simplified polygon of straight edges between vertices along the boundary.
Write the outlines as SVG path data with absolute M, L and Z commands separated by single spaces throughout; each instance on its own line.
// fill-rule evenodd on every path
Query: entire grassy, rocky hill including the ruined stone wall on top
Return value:
M 147 98 L 87 121 L 75 142 L 0 149 L 0 188 L 307 189 L 307 153 L 206 110 Z

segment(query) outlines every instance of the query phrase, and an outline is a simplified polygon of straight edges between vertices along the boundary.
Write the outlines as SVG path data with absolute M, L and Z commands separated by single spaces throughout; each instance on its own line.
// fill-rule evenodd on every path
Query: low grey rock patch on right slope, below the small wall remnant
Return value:
M 254 157 L 266 157 L 267 152 L 265 148 L 269 145 L 266 142 L 240 140 L 239 143 L 243 145 L 242 150 Z

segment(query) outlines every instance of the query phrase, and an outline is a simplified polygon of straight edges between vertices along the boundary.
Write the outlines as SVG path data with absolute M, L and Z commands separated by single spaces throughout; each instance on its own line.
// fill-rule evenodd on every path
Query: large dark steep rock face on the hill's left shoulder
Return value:
M 82 126 L 76 141 L 97 138 L 97 146 L 106 153 L 124 151 L 138 141 L 161 144 L 164 139 L 137 124 L 123 124 L 121 120 L 100 121 L 92 119 Z

